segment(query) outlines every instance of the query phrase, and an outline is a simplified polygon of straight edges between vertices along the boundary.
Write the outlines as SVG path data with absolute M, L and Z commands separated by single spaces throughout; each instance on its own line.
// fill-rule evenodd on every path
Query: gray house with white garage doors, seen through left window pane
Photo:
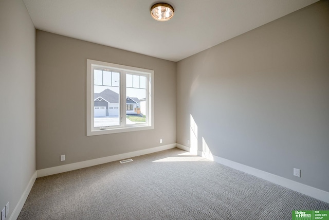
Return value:
M 94 93 L 94 116 L 118 116 L 119 115 L 119 94 L 110 89 L 101 93 Z

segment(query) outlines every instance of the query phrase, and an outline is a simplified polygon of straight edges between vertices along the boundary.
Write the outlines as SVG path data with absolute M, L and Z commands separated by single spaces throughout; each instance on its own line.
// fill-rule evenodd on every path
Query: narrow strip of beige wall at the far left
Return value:
M 0 103 L 0 208 L 12 215 L 35 173 L 35 29 L 21 0 L 0 1 Z

